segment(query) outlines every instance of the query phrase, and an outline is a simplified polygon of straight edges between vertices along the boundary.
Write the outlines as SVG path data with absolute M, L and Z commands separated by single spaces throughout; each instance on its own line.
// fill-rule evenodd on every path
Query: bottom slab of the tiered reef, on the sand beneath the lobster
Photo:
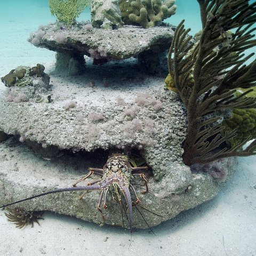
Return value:
M 102 154 L 97 153 L 87 159 L 84 155 L 75 154 L 47 161 L 35 156 L 33 151 L 13 139 L 0 145 L 0 159 L 2 162 L 0 166 L 1 204 L 55 188 L 70 187 L 85 174 L 87 167 L 103 164 Z M 221 166 L 231 174 L 236 164 L 233 158 L 229 158 L 222 161 Z M 137 184 L 135 188 L 141 199 L 141 206 L 163 216 L 158 217 L 139 208 L 150 226 L 155 226 L 175 217 L 181 211 L 208 201 L 221 188 L 220 184 L 207 173 L 191 172 L 188 167 L 177 163 L 168 167 L 168 174 L 160 182 L 156 182 L 153 178 L 149 179 L 148 194 L 139 192 L 143 189 L 139 180 L 133 181 Z M 179 177 L 179 183 L 174 184 L 177 182 L 175 177 Z M 95 179 L 98 177 L 88 179 L 86 182 Z M 19 206 L 26 210 L 49 210 L 102 223 L 101 214 L 96 210 L 99 193 L 99 191 L 89 192 L 82 200 L 78 199 L 78 195 L 81 194 L 79 192 L 53 194 L 20 203 Z M 103 214 L 106 217 L 106 223 L 122 226 L 122 215 L 118 203 L 109 199 L 108 209 L 103 210 Z M 128 226 L 126 221 L 125 226 Z M 136 209 L 133 209 L 133 227 L 147 228 Z

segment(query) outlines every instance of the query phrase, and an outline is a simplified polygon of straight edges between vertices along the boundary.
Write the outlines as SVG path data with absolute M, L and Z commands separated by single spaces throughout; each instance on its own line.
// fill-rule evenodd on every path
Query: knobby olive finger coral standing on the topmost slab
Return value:
M 175 14 L 177 6 L 174 2 L 175 0 L 120 0 L 119 8 L 125 24 L 139 23 L 143 28 L 149 28 Z

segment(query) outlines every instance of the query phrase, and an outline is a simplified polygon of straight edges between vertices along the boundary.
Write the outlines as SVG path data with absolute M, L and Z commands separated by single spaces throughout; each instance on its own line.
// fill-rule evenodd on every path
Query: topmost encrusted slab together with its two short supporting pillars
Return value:
M 151 66 L 154 66 L 153 63 L 156 62 L 155 66 L 159 66 L 158 69 L 160 69 L 159 54 L 169 49 L 173 33 L 171 27 L 143 29 L 136 26 L 124 26 L 117 30 L 98 28 L 86 30 L 81 23 L 78 26 L 61 30 L 53 24 L 32 34 L 29 42 L 34 43 L 40 35 L 35 46 L 61 53 L 61 58 L 57 58 L 57 67 L 61 67 L 62 71 L 66 70 L 65 72 L 70 75 L 76 72 L 78 74 L 84 69 L 84 61 L 81 61 L 83 55 L 93 58 L 98 64 L 111 60 L 129 59 L 138 55 L 141 66 L 147 71 L 161 73 Z M 63 54 L 67 56 L 64 57 Z M 76 66 L 75 69 L 74 66 Z M 66 69 L 63 69 L 64 67 Z

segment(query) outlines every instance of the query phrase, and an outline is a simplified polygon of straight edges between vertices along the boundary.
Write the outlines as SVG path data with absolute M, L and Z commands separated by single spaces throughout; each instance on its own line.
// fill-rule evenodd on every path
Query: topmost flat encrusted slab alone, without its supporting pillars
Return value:
M 159 53 L 169 49 L 174 34 L 171 27 L 143 29 L 124 26 L 114 30 L 99 28 L 86 30 L 84 27 L 73 26 L 61 30 L 55 24 L 45 26 L 43 30 L 32 34 L 29 42 L 37 37 L 40 43 L 36 46 L 56 52 L 70 51 L 88 56 L 91 55 L 90 49 L 98 51 L 100 46 L 100 50 L 104 51 L 102 58 L 123 60 L 148 50 Z

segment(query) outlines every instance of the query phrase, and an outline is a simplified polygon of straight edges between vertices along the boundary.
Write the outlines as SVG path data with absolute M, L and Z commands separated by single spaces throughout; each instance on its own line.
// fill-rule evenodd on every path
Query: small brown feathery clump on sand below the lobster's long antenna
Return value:
M 9 213 L 5 213 L 9 221 L 14 222 L 17 228 L 23 228 L 27 225 L 34 227 L 34 222 L 39 225 L 38 219 L 41 218 L 43 211 L 25 211 L 20 207 L 8 209 Z

